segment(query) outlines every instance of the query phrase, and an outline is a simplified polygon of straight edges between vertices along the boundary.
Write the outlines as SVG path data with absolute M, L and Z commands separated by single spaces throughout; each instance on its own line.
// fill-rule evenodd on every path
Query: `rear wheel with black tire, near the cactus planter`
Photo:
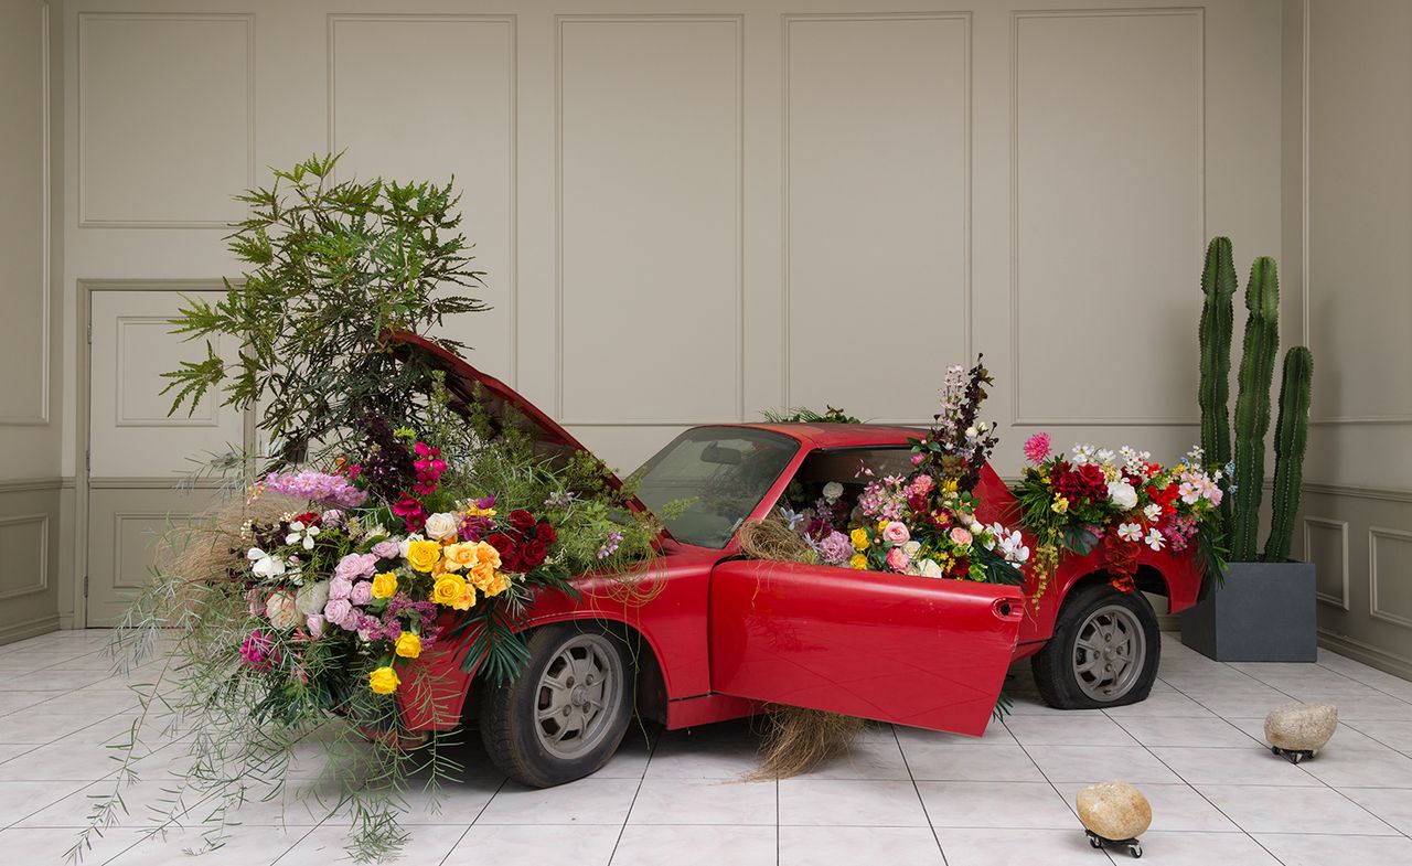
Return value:
M 1035 685 L 1056 709 L 1103 709 L 1145 701 L 1162 657 L 1156 613 L 1141 592 L 1110 583 L 1075 589 L 1055 631 L 1031 660 Z

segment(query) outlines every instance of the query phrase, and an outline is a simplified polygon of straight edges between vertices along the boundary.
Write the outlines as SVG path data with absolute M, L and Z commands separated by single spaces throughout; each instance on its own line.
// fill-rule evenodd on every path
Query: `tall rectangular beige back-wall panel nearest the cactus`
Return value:
M 1014 28 L 1015 420 L 1195 421 L 1202 11 Z

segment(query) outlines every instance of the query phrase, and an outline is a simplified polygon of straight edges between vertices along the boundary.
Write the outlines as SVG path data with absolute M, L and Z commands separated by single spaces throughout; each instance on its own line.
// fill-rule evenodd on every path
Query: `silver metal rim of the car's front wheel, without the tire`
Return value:
M 623 660 L 602 634 L 579 634 L 559 647 L 535 689 L 535 736 L 555 757 L 592 752 L 611 726 L 623 696 Z

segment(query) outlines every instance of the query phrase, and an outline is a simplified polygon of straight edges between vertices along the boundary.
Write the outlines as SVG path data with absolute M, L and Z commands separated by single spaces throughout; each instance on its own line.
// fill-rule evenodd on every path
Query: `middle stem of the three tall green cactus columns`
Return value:
M 1240 396 L 1236 398 L 1236 504 L 1230 533 L 1230 558 L 1236 562 L 1255 559 L 1265 482 L 1265 432 L 1269 429 L 1269 383 L 1279 349 L 1279 278 L 1275 260 L 1268 256 L 1261 256 L 1250 267 L 1245 309 L 1245 345 L 1240 360 Z

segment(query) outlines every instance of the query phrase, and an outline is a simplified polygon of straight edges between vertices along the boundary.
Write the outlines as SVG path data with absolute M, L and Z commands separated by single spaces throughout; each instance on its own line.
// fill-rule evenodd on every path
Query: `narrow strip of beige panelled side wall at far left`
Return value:
M 0 4 L 0 643 L 58 624 L 62 7 Z M 68 514 L 72 516 L 71 513 Z M 72 562 L 62 562 L 72 574 Z

